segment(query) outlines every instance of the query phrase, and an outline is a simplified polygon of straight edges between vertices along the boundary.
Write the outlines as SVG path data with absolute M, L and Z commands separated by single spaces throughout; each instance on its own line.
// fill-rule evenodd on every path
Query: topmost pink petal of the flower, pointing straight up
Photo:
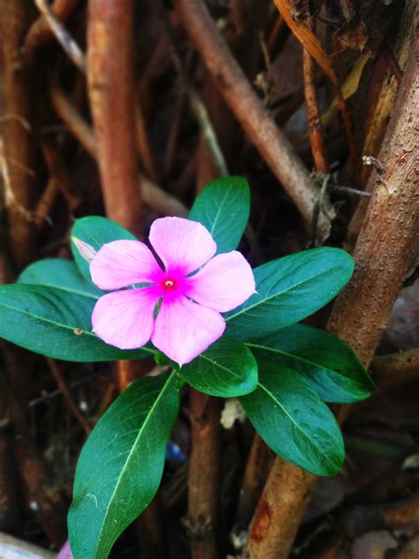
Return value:
M 198 270 L 217 250 L 209 231 L 190 219 L 156 219 L 150 228 L 149 241 L 166 272 L 180 270 L 185 275 Z

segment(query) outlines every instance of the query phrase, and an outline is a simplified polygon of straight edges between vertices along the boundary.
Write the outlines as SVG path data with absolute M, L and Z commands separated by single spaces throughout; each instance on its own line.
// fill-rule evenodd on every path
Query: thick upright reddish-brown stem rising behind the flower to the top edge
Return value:
M 106 213 L 139 233 L 133 7 L 133 0 L 89 2 L 88 94 Z

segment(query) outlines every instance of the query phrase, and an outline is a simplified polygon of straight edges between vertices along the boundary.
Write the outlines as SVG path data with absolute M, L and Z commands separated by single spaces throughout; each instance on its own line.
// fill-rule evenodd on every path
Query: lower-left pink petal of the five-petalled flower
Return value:
M 93 310 L 93 331 L 116 348 L 141 348 L 153 332 L 154 310 L 160 297 L 161 292 L 156 287 L 103 295 Z

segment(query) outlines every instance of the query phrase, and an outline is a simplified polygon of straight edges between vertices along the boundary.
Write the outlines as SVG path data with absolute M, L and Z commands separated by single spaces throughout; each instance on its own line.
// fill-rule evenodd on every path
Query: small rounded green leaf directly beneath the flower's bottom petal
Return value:
M 196 390 L 223 398 L 248 394 L 257 386 L 255 357 L 243 343 L 228 337 L 183 365 L 180 374 Z

